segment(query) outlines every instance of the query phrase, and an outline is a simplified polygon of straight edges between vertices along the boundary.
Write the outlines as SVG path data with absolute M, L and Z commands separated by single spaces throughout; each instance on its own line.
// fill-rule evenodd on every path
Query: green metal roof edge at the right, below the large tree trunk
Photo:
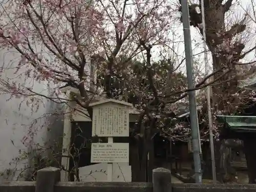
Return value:
M 226 123 L 237 132 L 256 132 L 256 116 L 216 115 L 217 120 Z

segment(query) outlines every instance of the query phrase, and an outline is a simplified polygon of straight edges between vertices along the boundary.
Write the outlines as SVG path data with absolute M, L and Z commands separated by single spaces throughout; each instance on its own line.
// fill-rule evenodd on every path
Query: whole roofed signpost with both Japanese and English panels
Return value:
M 129 143 L 114 143 L 113 137 L 129 137 L 131 103 L 106 99 L 91 103 L 92 136 L 108 137 L 108 143 L 92 143 L 91 162 L 108 163 L 108 181 L 112 181 L 113 163 L 129 163 Z

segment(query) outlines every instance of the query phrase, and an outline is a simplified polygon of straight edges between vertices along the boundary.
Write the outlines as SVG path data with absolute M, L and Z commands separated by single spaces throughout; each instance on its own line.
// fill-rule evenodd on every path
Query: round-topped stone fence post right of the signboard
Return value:
M 153 169 L 153 192 L 172 192 L 172 176 L 166 168 Z

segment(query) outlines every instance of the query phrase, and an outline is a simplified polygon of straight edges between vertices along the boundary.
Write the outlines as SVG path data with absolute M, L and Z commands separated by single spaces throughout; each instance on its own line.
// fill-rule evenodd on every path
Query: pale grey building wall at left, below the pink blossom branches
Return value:
M 12 68 L 17 66 L 18 57 L 19 54 L 14 50 L 0 51 L 0 67 L 4 69 L 0 73 L 0 181 L 24 180 L 19 177 L 19 173 L 23 172 L 26 175 L 25 167 L 28 163 L 33 163 L 28 160 L 27 153 L 34 153 L 36 148 L 44 147 L 49 143 L 47 141 L 53 140 L 53 136 L 56 136 L 48 134 L 49 116 L 46 115 L 53 111 L 56 105 L 49 104 L 42 98 L 36 110 L 36 106 L 27 104 L 28 98 L 12 96 L 11 93 L 7 93 L 11 89 L 5 89 L 3 86 L 5 81 L 25 83 L 25 86 L 33 88 L 35 92 L 48 94 L 43 82 L 25 79 L 26 69 L 20 69 L 15 74 L 16 69 Z

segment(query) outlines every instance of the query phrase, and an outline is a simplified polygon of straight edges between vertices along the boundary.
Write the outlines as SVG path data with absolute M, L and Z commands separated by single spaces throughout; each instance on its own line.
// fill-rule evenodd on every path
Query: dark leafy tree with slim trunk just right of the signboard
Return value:
M 176 102 L 186 102 L 188 91 L 186 77 L 179 72 L 179 65 L 175 66 L 172 59 L 153 62 L 151 49 L 150 46 L 145 48 L 143 51 L 145 57 L 142 55 L 141 61 L 127 60 L 123 56 L 117 58 L 118 66 L 125 65 L 125 73 L 116 72 L 111 81 L 113 98 L 131 102 L 141 112 L 137 126 L 132 131 L 132 137 L 137 143 L 137 148 L 133 151 L 135 154 L 140 154 L 139 163 L 135 166 L 136 179 L 133 178 L 136 181 L 146 180 L 145 164 L 148 153 L 150 154 L 148 166 L 152 166 L 151 163 L 154 161 L 152 146 L 156 134 L 160 133 L 172 140 L 182 140 L 181 136 L 187 140 L 190 135 L 189 126 L 178 124 L 176 119 L 176 113 L 179 110 Z M 98 83 L 103 84 L 104 78 L 101 78 L 103 74 L 99 74 L 98 77 Z M 196 89 L 204 88 L 207 78 L 201 79 Z M 148 174 L 149 180 L 150 175 Z

